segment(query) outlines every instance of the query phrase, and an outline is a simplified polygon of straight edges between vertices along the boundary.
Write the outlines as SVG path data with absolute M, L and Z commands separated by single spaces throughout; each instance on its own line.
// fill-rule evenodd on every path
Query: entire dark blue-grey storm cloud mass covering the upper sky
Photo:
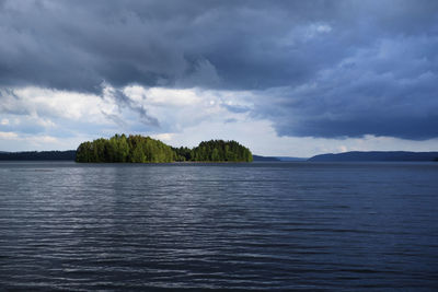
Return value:
M 434 138 L 437 12 L 414 0 L 0 1 L 0 86 L 249 90 L 280 135 Z

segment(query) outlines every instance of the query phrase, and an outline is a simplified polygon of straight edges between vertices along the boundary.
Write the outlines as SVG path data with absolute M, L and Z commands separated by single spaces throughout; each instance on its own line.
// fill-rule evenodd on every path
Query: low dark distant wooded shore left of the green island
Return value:
M 74 161 L 76 150 L 0 152 L 0 161 Z

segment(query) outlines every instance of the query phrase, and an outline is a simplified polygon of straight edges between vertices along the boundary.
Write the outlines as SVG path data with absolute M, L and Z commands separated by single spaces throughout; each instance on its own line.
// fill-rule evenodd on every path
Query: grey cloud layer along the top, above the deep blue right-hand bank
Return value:
M 435 1 L 7 0 L 1 82 L 91 92 L 103 80 L 115 87 L 293 84 L 381 37 L 434 33 L 437 8 Z

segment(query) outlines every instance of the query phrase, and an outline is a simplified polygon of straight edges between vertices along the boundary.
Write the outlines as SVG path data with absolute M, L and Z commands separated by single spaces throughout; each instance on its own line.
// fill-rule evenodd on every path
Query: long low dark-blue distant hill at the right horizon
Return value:
M 407 151 L 351 151 L 338 154 L 320 154 L 308 161 L 436 161 L 438 152 Z

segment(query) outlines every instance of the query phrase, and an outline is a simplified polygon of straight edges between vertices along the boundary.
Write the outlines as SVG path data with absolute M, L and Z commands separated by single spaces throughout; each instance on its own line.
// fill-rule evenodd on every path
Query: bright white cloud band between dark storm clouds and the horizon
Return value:
M 438 145 L 437 139 L 279 137 L 270 120 L 252 113 L 253 103 L 263 98 L 261 92 L 131 85 L 123 89 L 123 93 L 135 107 L 157 117 L 161 126 L 148 128 L 138 113 L 127 106 L 119 107 L 116 98 L 108 92 L 105 95 L 105 91 L 99 96 L 25 87 L 15 90 L 14 96 L 1 97 L 0 150 L 76 149 L 82 141 L 116 132 L 151 136 L 174 147 L 195 147 L 210 139 L 237 140 L 255 154 L 303 157 L 354 150 L 434 151 Z

